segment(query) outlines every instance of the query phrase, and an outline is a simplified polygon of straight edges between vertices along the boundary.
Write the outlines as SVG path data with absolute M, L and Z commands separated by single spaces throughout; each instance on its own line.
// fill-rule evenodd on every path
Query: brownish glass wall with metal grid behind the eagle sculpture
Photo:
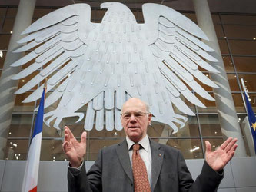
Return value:
M 35 8 L 33 20 L 35 21 L 55 9 Z M 143 22 L 141 9 L 132 11 L 138 22 Z M 0 7 L 0 75 L 8 48 L 8 41 L 12 35 L 12 26 L 15 21 L 16 12 L 17 8 Z M 98 8 L 93 9 L 91 12 L 91 21 L 101 22 L 104 14 L 104 10 L 99 10 Z M 193 12 L 186 12 L 184 15 L 196 22 Z M 212 17 L 221 47 L 222 58 L 228 74 L 228 81 L 231 85 L 238 121 L 241 123 L 245 117 L 240 83 L 241 78 L 244 78 L 249 91 L 251 104 L 254 111 L 256 111 L 256 85 L 254 84 L 254 79 L 256 78 L 256 15 L 228 15 L 219 13 L 212 15 Z M 39 71 L 35 71 L 32 76 Z M 203 72 L 208 75 L 207 71 Z M 25 84 L 32 76 L 19 81 L 18 87 Z M 213 95 L 211 88 L 206 88 L 206 90 Z M 24 104 L 22 101 L 33 91 L 35 89 L 16 96 L 12 124 L 9 129 L 8 141 L 5 148 L 5 159 L 26 159 L 36 117 L 34 109 L 38 101 L 28 104 Z M 148 127 L 148 135 L 153 140 L 180 149 L 185 158 L 188 159 L 204 157 L 204 141 L 206 140 L 211 142 L 213 148 L 218 147 L 223 142 L 215 102 L 206 101 L 200 96 L 196 96 L 208 108 L 198 108 L 186 101 L 196 115 L 194 117 L 188 117 L 185 127 L 178 131 L 178 134 L 171 134 L 171 129 L 168 126 L 157 122 L 153 122 L 152 126 Z M 55 107 L 56 104 L 47 110 Z M 81 111 L 85 112 L 83 109 Z M 62 121 L 62 125 L 68 125 L 75 137 L 80 140 L 84 121 L 75 124 L 76 120 L 76 118 L 65 119 L 65 121 Z M 95 160 L 99 149 L 116 144 L 124 138 L 124 131 L 95 131 L 95 129 L 88 131 L 85 160 Z M 47 127 L 44 124 L 41 159 L 52 161 L 66 160 L 65 154 L 62 152 L 62 141 L 62 131 L 56 131 L 55 128 Z

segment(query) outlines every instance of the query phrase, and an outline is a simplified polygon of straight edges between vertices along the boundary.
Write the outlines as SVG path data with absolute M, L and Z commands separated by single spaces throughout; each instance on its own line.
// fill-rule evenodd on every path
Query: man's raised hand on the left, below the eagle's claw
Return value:
M 86 132 L 81 134 L 81 142 L 79 143 L 70 129 L 65 126 L 65 138 L 62 144 L 63 150 L 70 161 L 71 167 L 79 167 L 84 160 L 86 152 Z

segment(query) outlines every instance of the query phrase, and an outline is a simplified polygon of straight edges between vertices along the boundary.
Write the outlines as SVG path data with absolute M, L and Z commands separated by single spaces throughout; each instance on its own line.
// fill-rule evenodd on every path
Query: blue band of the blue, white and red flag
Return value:
M 40 100 L 39 108 L 38 108 L 38 115 L 35 119 L 35 128 L 33 132 L 32 139 L 35 137 L 35 135 L 42 132 L 42 125 L 43 125 L 43 118 L 44 118 L 44 105 L 45 105 L 45 88 L 42 92 L 42 97 Z

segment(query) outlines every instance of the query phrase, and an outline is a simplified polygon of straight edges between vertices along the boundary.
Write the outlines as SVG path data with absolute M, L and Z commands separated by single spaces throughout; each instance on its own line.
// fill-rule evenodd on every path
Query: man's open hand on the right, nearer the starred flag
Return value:
M 215 171 L 222 170 L 234 156 L 234 151 L 238 147 L 236 144 L 237 141 L 238 139 L 229 137 L 216 151 L 211 151 L 210 142 L 205 141 L 205 160 L 208 165 Z

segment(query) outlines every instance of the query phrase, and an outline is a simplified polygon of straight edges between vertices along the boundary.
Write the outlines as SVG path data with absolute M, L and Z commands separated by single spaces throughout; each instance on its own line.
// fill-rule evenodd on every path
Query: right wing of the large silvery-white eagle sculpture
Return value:
M 218 88 L 218 85 L 198 69 L 200 66 L 218 73 L 218 70 L 204 61 L 218 62 L 208 54 L 214 50 L 198 39 L 208 40 L 207 36 L 190 19 L 164 5 L 147 3 L 143 5 L 142 11 L 145 18 L 145 24 L 141 24 L 142 29 L 158 63 L 171 103 L 181 112 L 193 115 L 193 111 L 181 100 L 183 95 L 192 104 L 206 108 L 189 88 L 202 98 L 214 101 L 195 81 L 197 78 L 203 84 Z

